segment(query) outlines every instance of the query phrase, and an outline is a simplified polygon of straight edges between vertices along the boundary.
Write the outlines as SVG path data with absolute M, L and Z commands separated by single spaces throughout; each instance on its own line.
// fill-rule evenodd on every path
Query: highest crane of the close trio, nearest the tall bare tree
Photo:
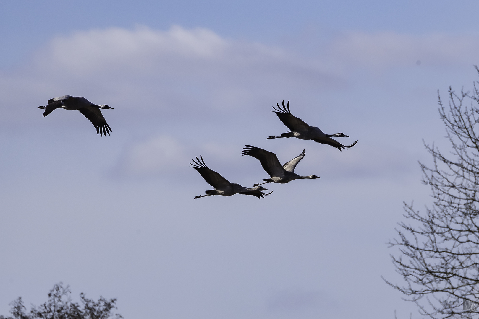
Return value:
M 272 112 L 276 113 L 283 124 L 289 129 L 289 132 L 281 133 L 281 136 L 270 136 L 266 138 L 267 140 L 281 137 L 296 137 L 301 140 L 313 140 L 318 143 L 328 144 L 336 147 L 340 151 L 342 151 L 342 148 L 353 147 L 358 143 L 358 141 L 356 141 L 349 146 L 343 145 L 331 137 L 349 137 L 348 135 L 345 135 L 344 133 L 325 134 L 316 126 L 309 126 L 305 121 L 291 114 L 291 111 L 289 110 L 289 101 L 287 109 L 284 100 L 283 108 L 281 108 L 278 103 L 276 103 L 276 105 L 278 106 L 278 109 L 273 107 L 274 111 Z

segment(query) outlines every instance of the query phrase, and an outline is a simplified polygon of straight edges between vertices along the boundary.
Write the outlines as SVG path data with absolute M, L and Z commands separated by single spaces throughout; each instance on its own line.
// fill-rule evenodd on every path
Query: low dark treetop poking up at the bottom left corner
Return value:
M 72 302 L 69 295 L 71 294 L 69 286 L 63 287 L 62 283 L 53 286 L 48 294 L 48 301 L 37 308 L 32 306 L 30 313 L 25 313 L 26 307 L 23 305 L 22 297 L 10 303 L 10 313 L 13 317 L 3 317 L 0 319 L 109 319 L 123 318 L 120 314 L 111 314 L 116 309 L 116 299 L 107 300 L 100 296 L 98 301 L 88 299 L 83 293 L 80 304 Z

